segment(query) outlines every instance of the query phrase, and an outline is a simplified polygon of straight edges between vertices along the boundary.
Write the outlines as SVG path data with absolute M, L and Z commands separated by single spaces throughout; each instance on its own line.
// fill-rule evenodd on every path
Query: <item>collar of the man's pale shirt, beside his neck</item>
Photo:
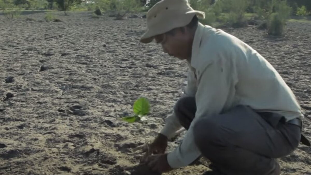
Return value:
M 197 30 L 195 31 L 193 38 L 191 62 L 190 62 L 190 65 L 193 68 L 197 67 L 197 55 L 200 50 L 204 28 L 205 26 L 200 22 L 198 22 Z

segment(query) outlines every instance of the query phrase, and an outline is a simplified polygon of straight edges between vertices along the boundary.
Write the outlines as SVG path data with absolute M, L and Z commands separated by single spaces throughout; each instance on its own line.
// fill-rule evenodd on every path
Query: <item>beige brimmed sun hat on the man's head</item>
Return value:
M 193 10 L 188 0 L 162 0 L 147 13 L 148 30 L 142 35 L 142 43 L 150 43 L 156 35 L 190 23 L 193 16 L 205 18 L 205 13 Z

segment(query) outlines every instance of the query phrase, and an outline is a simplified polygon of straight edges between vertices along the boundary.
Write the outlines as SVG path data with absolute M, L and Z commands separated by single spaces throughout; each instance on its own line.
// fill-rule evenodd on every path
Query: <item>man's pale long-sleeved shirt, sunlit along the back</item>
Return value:
M 202 117 L 246 105 L 258 112 L 275 112 L 286 121 L 303 119 L 295 95 L 272 65 L 256 50 L 220 29 L 198 24 L 194 35 L 188 83 L 183 96 L 196 99 L 197 111 L 183 141 L 167 156 L 172 168 L 187 166 L 201 152 L 193 125 Z M 182 126 L 174 112 L 161 134 L 171 138 Z

